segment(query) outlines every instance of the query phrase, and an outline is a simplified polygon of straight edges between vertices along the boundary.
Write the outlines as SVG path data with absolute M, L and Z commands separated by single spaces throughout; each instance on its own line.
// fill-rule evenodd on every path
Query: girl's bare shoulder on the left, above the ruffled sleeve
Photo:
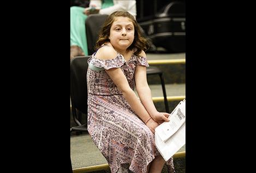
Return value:
M 116 50 L 112 47 L 112 45 L 107 45 L 100 47 L 97 51 L 95 57 L 98 59 L 113 59 L 117 56 Z

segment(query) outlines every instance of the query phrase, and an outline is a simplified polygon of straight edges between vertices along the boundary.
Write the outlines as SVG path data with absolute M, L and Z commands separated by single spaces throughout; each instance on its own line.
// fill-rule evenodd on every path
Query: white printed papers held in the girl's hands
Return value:
M 169 116 L 169 122 L 155 129 L 155 144 L 164 160 L 170 159 L 186 144 L 186 100 L 181 101 Z

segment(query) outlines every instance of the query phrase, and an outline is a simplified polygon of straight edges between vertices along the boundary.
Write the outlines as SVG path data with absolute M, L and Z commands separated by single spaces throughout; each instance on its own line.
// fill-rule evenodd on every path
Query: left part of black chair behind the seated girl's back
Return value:
M 79 115 L 85 114 L 87 120 L 87 59 L 91 56 L 74 57 L 70 61 L 70 98 L 72 116 L 78 126 L 70 128 L 70 132 L 88 132 L 87 123 L 79 121 Z M 87 122 L 87 121 L 86 121 Z

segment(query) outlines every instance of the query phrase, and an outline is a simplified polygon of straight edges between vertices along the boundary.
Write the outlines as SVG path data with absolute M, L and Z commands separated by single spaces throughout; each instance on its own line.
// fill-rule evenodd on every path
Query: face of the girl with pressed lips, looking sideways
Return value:
M 116 17 L 110 28 L 109 39 L 116 49 L 127 49 L 134 40 L 133 22 L 128 17 Z

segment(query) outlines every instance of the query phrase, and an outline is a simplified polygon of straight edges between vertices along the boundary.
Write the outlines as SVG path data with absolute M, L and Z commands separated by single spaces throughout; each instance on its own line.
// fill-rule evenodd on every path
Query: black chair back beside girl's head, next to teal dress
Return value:
M 95 51 L 94 46 L 98 39 L 99 30 L 105 22 L 106 17 L 108 17 L 108 15 L 91 14 L 85 21 L 88 55 L 92 55 Z

